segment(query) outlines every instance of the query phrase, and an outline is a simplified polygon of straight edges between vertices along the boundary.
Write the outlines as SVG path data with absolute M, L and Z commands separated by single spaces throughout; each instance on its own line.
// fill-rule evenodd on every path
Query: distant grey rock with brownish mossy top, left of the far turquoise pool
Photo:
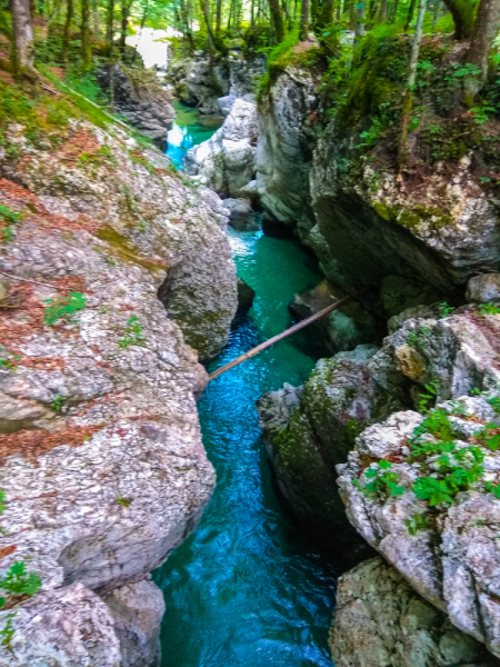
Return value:
M 113 87 L 114 110 L 163 149 L 176 111 L 156 71 L 117 63 L 101 72 L 100 81 Z

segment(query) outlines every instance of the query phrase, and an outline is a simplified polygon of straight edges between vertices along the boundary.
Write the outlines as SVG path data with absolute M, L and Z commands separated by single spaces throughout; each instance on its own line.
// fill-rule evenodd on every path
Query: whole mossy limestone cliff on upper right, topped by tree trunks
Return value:
M 262 207 L 296 228 L 336 288 L 374 283 L 363 299 L 372 315 L 462 299 L 467 280 L 500 258 L 499 128 L 456 103 L 464 50 L 424 40 L 410 163 L 400 169 L 407 40 L 370 37 L 350 69 L 333 63 L 326 73 L 314 44 L 300 49 L 270 63 L 260 92 Z

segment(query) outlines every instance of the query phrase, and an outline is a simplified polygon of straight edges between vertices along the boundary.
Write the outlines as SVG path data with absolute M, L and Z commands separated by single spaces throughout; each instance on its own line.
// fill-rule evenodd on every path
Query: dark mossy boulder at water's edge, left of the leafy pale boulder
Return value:
M 322 535 L 323 545 L 351 564 L 367 550 L 349 530 L 334 466 L 346 460 L 370 418 L 374 396 L 366 369 L 376 351 L 373 346 L 360 346 L 321 359 L 303 389 L 286 386 L 258 401 L 281 492 L 296 516 Z

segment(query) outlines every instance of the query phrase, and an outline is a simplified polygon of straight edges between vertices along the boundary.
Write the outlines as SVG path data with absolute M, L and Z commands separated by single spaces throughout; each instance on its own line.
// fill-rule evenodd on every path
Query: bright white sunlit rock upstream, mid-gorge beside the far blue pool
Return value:
M 237 99 L 222 127 L 186 153 L 184 171 L 219 195 L 239 198 L 253 178 L 257 135 L 256 103 Z

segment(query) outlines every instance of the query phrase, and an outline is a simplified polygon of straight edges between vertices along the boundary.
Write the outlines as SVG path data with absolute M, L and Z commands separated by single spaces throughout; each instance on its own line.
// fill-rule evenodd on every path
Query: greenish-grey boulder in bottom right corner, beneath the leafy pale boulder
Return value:
M 338 667 L 500 664 L 380 558 L 340 577 L 330 647 Z

